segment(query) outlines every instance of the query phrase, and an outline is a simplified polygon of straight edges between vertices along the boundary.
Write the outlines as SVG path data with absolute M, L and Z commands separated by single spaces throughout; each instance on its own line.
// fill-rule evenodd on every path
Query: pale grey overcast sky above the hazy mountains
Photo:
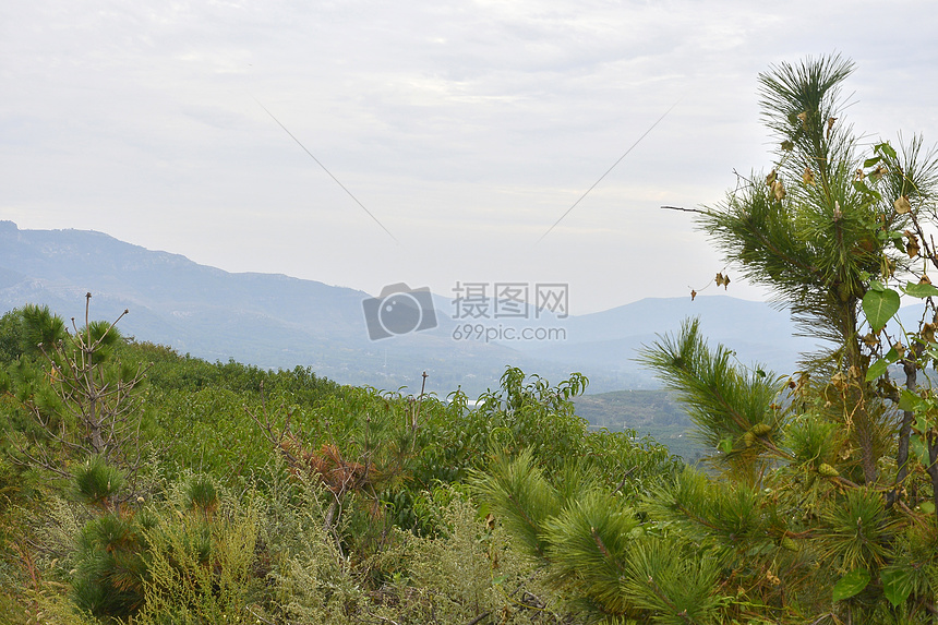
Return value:
M 0 219 L 372 295 L 687 296 L 723 266 L 660 206 L 771 168 L 758 73 L 840 52 L 849 121 L 931 145 L 936 27 L 933 1 L 7 1 Z

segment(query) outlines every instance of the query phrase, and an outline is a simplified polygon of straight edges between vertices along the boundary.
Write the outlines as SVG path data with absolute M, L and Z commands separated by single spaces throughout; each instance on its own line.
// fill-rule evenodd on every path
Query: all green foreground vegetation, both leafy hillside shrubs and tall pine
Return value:
M 26 305 L 0 320 L 0 614 L 936 623 L 938 155 L 861 143 L 839 97 L 852 70 L 761 74 L 772 169 L 690 211 L 821 342 L 782 373 L 696 318 L 646 344 L 700 467 L 591 428 L 578 373 L 507 368 L 470 404 L 183 357 L 94 321 L 91 295 L 68 326 Z M 917 321 L 897 323 L 903 298 Z M 637 397 L 645 417 L 660 398 Z

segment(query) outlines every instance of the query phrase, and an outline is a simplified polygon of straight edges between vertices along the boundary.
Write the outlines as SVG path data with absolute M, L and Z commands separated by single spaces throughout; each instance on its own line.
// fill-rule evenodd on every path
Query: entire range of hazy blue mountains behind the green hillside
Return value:
M 419 390 L 426 371 L 428 390 L 442 395 L 457 386 L 478 395 L 496 386 L 509 364 L 551 382 L 582 372 L 591 393 L 653 388 L 657 382 L 634 361 L 635 350 L 695 315 L 711 344 L 732 347 L 746 364 L 758 361 L 787 373 L 797 352 L 813 347 L 792 337 L 786 313 L 727 296 L 645 299 L 567 318 L 504 322 L 566 334 L 565 340 L 504 344 L 455 340 L 454 329 L 466 322 L 453 318 L 450 298 L 434 296 L 437 327 L 372 341 L 362 301 L 373 296 L 359 290 L 285 275 L 231 274 L 95 231 L 20 230 L 0 221 L 0 310 L 48 304 L 81 324 L 86 292 L 94 296 L 93 318 L 111 320 L 129 309 L 120 323 L 124 335 L 182 353 L 262 368 L 311 366 L 337 382 L 410 392 Z

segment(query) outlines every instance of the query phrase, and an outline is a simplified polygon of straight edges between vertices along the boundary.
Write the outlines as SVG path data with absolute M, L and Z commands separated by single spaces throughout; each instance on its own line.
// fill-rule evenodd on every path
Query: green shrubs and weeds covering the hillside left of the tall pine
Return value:
M 68 332 L 39 307 L 0 320 L 0 358 L 10 623 L 580 622 L 471 478 L 579 457 L 635 497 L 677 467 L 590 432 L 578 376 L 509 369 L 469 409 L 209 363 L 107 322 Z

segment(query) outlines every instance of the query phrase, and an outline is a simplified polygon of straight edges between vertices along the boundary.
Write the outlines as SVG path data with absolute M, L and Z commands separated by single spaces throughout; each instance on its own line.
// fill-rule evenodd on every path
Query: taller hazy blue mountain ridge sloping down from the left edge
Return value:
M 373 342 L 365 292 L 284 275 L 231 274 L 166 252 L 85 230 L 20 230 L 0 221 L 0 309 L 48 304 L 65 318 L 121 321 L 125 335 L 208 360 L 263 368 L 312 366 L 349 384 L 419 386 L 473 394 L 497 382 L 506 363 L 530 364 L 516 351 L 448 338 L 443 314 L 435 333 Z M 448 324 L 448 325 L 447 325 Z M 458 366 L 456 365 L 458 363 Z

